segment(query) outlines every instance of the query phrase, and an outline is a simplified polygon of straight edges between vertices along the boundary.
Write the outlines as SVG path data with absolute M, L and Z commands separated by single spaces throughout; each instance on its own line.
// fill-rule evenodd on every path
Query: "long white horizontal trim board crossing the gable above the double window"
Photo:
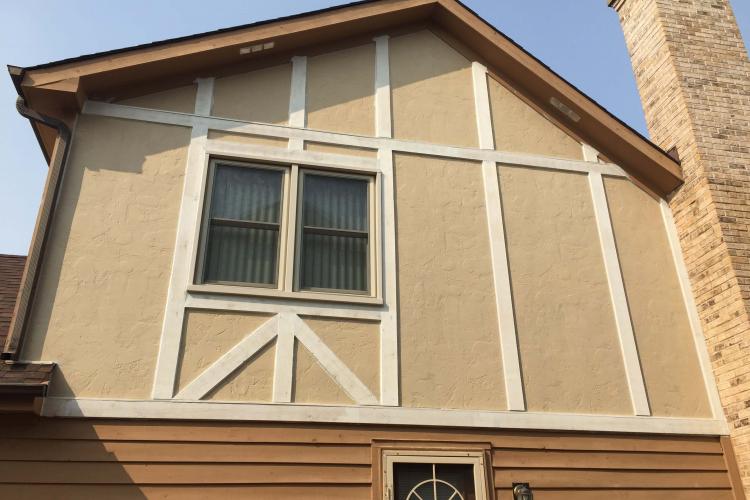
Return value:
M 395 152 L 413 153 L 445 158 L 459 158 L 474 161 L 492 161 L 508 166 L 522 166 L 544 168 L 550 170 L 565 170 L 571 172 L 598 172 L 602 175 L 627 177 L 627 174 L 617 165 L 610 163 L 593 163 L 582 160 L 565 160 L 546 156 L 529 155 L 523 153 L 493 151 L 478 148 L 460 148 L 413 141 L 390 139 L 387 137 L 365 137 L 335 132 L 323 132 L 305 128 L 289 127 L 285 125 L 270 125 L 265 123 L 247 122 L 242 120 L 208 117 L 175 111 L 137 108 L 99 101 L 86 101 L 83 114 L 107 116 L 127 120 L 145 121 L 192 127 L 200 125 L 209 130 L 221 130 L 238 134 L 261 135 L 284 139 L 300 139 L 303 141 L 322 142 L 339 146 L 354 146 L 369 149 L 389 149 Z M 342 155 L 343 156 L 343 155 Z

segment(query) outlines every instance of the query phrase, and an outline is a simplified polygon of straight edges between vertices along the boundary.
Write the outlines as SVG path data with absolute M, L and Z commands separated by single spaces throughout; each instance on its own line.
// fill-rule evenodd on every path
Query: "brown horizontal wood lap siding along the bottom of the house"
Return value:
M 380 498 L 377 446 L 400 443 L 484 447 L 498 500 L 513 482 L 541 500 L 744 498 L 718 437 L 19 416 L 0 417 L 0 497 Z

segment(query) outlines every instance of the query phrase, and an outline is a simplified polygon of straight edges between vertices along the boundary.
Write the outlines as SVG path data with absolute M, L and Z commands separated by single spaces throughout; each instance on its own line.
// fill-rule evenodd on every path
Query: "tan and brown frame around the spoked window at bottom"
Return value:
M 383 450 L 383 500 L 394 499 L 394 466 L 397 463 L 471 464 L 474 472 L 474 491 L 478 500 L 490 500 L 487 487 L 485 452 L 481 450 Z

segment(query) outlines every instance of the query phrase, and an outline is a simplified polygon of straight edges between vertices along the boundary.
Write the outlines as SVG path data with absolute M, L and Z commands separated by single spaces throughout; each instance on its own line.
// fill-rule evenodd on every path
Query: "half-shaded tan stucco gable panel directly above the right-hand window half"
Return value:
M 359 135 L 375 132 L 375 44 L 308 58 L 307 126 Z

